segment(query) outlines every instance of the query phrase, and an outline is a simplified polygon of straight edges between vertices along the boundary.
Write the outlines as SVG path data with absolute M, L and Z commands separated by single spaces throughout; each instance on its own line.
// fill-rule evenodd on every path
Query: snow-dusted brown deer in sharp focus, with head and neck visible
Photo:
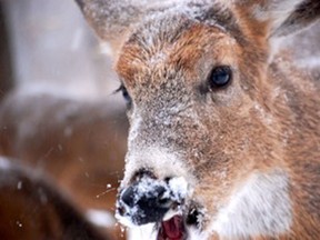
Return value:
M 120 223 L 157 240 L 320 239 L 319 82 L 279 48 L 318 0 L 76 1 L 128 103 Z

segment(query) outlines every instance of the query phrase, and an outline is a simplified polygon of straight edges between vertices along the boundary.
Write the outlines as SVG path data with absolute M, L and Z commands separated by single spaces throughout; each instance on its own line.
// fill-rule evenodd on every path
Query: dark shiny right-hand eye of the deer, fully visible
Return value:
M 211 90 L 216 90 L 228 86 L 232 79 L 232 71 L 228 66 L 214 68 L 209 77 L 209 86 Z

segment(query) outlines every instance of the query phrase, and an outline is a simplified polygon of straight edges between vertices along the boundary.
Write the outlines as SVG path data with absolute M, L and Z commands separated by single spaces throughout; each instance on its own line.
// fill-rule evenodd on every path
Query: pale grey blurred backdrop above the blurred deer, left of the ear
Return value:
M 110 59 L 72 0 L 2 2 L 17 84 L 81 99 L 109 96 L 117 88 Z

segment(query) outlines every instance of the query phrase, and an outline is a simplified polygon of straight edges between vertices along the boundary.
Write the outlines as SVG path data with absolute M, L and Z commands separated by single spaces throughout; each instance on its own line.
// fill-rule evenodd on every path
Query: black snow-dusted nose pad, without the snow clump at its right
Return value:
M 170 190 L 164 182 L 143 178 L 122 190 L 119 212 L 136 224 L 146 224 L 161 221 L 171 204 Z

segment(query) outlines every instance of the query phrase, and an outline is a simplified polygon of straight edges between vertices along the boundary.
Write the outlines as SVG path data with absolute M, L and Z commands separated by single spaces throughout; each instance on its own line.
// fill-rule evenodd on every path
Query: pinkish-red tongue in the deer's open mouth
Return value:
M 184 228 L 182 217 L 174 216 L 168 221 L 161 223 L 158 240 L 182 240 L 183 232 Z

